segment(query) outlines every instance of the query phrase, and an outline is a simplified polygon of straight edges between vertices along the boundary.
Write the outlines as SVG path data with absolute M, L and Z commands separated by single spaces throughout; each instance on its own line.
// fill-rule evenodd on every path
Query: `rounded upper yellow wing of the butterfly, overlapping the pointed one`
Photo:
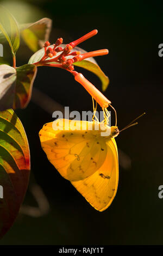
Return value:
M 89 130 L 93 122 L 59 121 L 43 126 L 39 133 L 42 148 L 48 160 L 64 178 L 70 181 L 85 179 L 105 161 L 105 138 L 100 136 L 100 131 Z M 57 122 L 60 130 L 53 129 Z M 82 130 L 84 127 L 85 130 Z

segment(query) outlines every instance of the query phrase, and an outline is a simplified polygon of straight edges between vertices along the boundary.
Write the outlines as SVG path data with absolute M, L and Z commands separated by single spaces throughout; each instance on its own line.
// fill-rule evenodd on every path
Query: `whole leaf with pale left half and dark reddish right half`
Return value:
M 0 111 L 27 107 L 36 72 L 35 65 L 26 64 L 16 70 L 0 65 Z

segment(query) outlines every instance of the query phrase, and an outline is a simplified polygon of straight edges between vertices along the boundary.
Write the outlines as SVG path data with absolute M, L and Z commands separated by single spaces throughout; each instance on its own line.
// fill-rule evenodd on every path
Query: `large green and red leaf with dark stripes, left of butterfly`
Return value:
M 23 125 L 12 109 L 0 112 L 0 237 L 11 227 L 27 191 L 30 153 Z

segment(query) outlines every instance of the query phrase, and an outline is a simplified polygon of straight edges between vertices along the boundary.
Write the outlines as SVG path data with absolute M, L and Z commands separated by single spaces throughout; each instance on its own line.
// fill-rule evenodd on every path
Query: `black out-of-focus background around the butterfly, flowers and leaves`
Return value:
M 16 12 L 14 1 L 0 3 L 12 14 Z M 162 6 L 157 1 L 42 0 L 16 4 L 22 10 L 16 15 L 19 22 L 24 13 L 30 14 L 30 22 L 42 17 L 53 20 L 52 43 L 60 36 L 68 43 L 98 29 L 95 37 L 79 46 L 86 51 L 109 50 L 108 56 L 96 60 L 110 78 L 104 94 L 116 108 L 118 127 L 143 112 L 147 114 L 139 125 L 116 138 L 117 147 L 130 157 L 131 168 L 120 167 L 117 195 L 107 210 L 98 212 L 60 176 L 41 149 L 38 133 L 43 124 L 53 121 L 52 115 L 32 101 L 26 109 L 16 111 L 29 140 L 32 179 L 34 176 L 42 187 L 51 210 L 39 218 L 19 215 L 0 244 L 162 245 L 163 199 L 158 197 L 158 187 L 163 185 L 163 57 L 158 56 L 158 45 L 163 43 Z M 27 48 L 20 48 L 17 66 L 27 63 L 31 55 Z M 101 90 L 95 75 L 78 70 Z M 90 95 L 64 70 L 40 67 L 34 87 L 72 110 L 92 109 Z M 29 191 L 24 203 L 36 205 Z

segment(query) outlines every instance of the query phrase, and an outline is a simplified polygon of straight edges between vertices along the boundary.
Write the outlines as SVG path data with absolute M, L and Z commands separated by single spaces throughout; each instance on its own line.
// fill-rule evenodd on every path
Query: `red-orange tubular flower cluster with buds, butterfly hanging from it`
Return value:
M 80 62 L 83 59 L 95 56 L 103 56 L 109 53 L 107 49 L 86 52 L 83 54 L 81 54 L 79 51 L 72 51 L 74 47 L 76 47 L 81 42 L 91 38 L 92 36 L 96 35 L 97 32 L 97 29 L 94 29 L 93 31 L 87 33 L 86 35 L 82 36 L 76 41 L 70 42 L 70 44 L 67 44 L 64 48 L 60 46 L 63 42 L 62 38 L 57 39 L 55 44 L 53 44 L 53 48 L 49 47 L 51 45 L 49 41 L 45 42 L 45 54 L 39 62 L 36 62 L 34 64 L 36 66 L 54 66 L 56 68 L 65 69 L 71 72 L 72 75 L 74 75 L 75 80 L 82 84 L 82 86 L 93 97 L 93 99 L 95 99 L 102 108 L 106 108 L 109 106 L 111 101 L 106 99 L 106 97 L 101 92 L 99 92 L 99 90 L 95 86 L 93 86 L 92 83 L 86 80 L 86 78 L 82 74 L 78 73 L 77 71 L 74 71 L 73 66 L 73 63 Z M 73 56 L 73 58 L 70 58 L 70 56 Z

